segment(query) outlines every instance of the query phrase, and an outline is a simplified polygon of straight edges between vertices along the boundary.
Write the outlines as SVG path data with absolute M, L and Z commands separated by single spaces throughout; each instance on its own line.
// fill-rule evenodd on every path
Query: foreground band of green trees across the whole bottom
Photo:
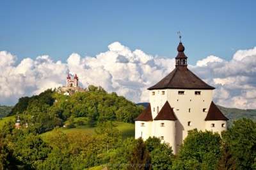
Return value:
M 217 133 L 191 130 L 173 155 L 156 137 L 124 141 L 115 125 L 100 123 L 95 135 L 64 134 L 58 128 L 46 141 L 27 128 L 6 123 L 0 130 L 0 169 L 255 169 L 256 123 L 242 119 Z

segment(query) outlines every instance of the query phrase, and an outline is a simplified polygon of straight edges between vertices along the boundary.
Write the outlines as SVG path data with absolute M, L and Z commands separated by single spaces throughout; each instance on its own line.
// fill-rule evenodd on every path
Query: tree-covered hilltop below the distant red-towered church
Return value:
M 40 95 L 22 97 L 10 115 L 19 115 L 21 122 L 28 123 L 30 132 L 41 134 L 54 127 L 63 126 L 70 118 L 86 117 L 91 126 L 104 121 L 134 122 L 143 110 L 142 106 L 107 93 L 102 88 L 89 86 L 86 93 L 66 96 L 48 89 Z

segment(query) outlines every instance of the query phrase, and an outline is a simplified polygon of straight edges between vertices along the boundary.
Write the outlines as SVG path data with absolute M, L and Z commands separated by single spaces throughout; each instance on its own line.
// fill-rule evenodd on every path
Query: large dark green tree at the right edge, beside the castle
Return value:
M 255 121 L 246 118 L 234 121 L 222 137 L 232 157 L 236 159 L 237 169 L 253 169 L 256 158 Z

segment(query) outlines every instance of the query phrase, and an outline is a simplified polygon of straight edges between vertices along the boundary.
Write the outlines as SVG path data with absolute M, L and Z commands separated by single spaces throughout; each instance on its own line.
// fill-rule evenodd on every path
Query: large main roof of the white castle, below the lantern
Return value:
M 148 89 L 214 89 L 186 66 L 177 66 L 171 73 Z

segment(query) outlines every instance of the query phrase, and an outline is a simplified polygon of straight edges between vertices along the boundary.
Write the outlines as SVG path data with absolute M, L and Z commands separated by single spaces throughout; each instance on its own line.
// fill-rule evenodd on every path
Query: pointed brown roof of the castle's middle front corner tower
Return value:
M 154 120 L 177 120 L 172 107 L 168 102 L 165 102 L 161 111 L 157 114 Z

